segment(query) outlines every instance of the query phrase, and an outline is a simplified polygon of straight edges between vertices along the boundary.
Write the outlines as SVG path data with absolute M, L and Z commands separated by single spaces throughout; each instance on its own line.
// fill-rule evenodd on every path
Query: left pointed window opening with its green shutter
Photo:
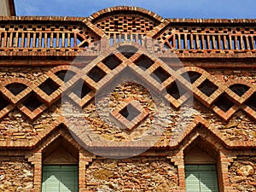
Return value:
M 63 137 L 43 150 L 42 192 L 79 191 L 79 151 Z

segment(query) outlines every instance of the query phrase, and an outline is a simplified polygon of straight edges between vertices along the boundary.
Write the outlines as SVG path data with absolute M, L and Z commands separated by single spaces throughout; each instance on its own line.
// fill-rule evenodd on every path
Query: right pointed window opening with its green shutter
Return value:
M 218 150 L 198 137 L 184 150 L 187 192 L 218 192 Z

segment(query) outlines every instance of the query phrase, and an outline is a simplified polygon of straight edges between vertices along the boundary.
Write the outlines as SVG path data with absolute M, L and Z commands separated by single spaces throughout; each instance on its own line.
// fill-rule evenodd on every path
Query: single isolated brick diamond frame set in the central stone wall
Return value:
M 145 110 L 140 102 L 128 98 L 113 109 L 112 115 L 120 124 L 125 125 L 127 130 L 131 131 L 148 116 L 148 110 Z

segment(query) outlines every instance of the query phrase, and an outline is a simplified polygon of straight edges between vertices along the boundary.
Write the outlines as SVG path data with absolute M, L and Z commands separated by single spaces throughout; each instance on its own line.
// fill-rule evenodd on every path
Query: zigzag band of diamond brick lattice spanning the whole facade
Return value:
M 253 102 L 256 99 L 254 84 L 245 80 L 230 80 L 224 84 L 199 67 L 185 67 L 174 71 L 158 58 L 138 51 L 137 44 L 133 44 L 134 47 L 131 46 L 135 53 L 126 55 L 127 46 L 131 45 L 106 51 L 101 61 L 96 59 L 82 69 L 68 66 L 54 67 L 33 83 L 23 79 L 4 81 L 1 84 L 3 98 L 0 108 L 1 117 L 17 107 L 30 119 L 35 119 L 53 102 L 61 98 L 62 91 L 67 92 L 67 96 L 73 102 L 83 107 L 93 98 L 95 90 L 111 82 L 115 75 L 129 65 L 154 89 L 160 92 L 166 91 L 166 100 L 175 108 L 179 108 L 193 94 L 224 120 L 230 119 L 239 109 L 256 119 L 256 107 Z M 67 70 L 69 70 L 68 73 Z M 68 76 L 64 79 L 66 73 Z M 185 75 L 187 73 L 189 79 Z M 66 84 L 61 88 L 64 80 Z M 81 93 L 78 92 L 79 85 L 83 85 Z M 138 111 L 141 112 L 142 109 L 138 108 Z

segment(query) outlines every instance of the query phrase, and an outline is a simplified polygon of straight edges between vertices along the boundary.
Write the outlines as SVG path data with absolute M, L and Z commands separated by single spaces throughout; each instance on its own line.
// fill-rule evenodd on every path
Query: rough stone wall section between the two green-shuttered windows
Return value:
M 86 169 L 90 191 L 154 191 L 177 189 L 177 167 L 166 158 L 94 160 Z

